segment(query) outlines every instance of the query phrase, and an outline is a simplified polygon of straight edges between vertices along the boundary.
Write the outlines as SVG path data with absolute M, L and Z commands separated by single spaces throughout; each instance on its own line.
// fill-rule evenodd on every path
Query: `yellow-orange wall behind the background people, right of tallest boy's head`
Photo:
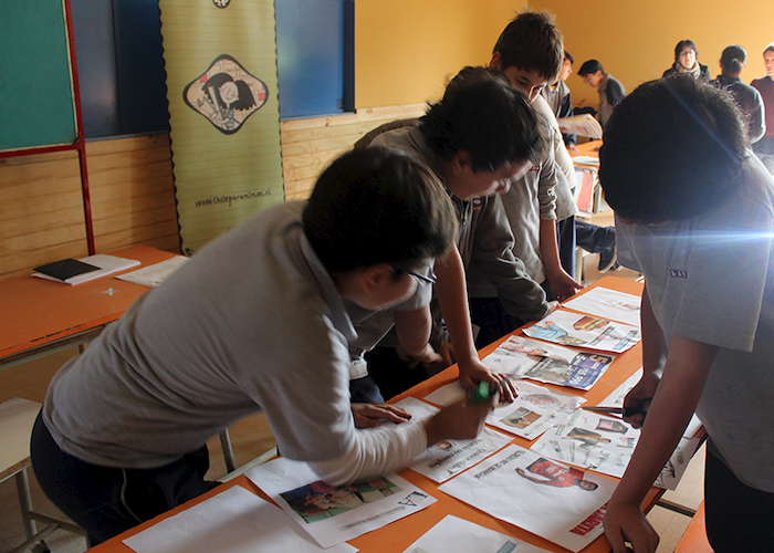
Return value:
M 530 8 L 556 15 L 565 46 L 575 59 L 574 69 L 589 59 L 602 62 L 628 92 L 658 79 L 674 62 L 674 46 L 684 39 L 699 50 L 699 61 L 714 79 L 720 73 L 723 49 L 740 44 L 747 51 L 742 81 L 766 74 L 763 49 L 774 41 L 774 2 L 745 0 L 531 0 Z M 596 90 L 572 74 L 567 79 L 575 105 L 597 105 Z

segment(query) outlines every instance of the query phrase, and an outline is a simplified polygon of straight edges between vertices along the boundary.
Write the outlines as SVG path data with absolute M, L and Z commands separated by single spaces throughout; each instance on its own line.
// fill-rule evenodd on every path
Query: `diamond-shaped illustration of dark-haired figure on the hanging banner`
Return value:
M 182 91 L 186 104 L 227 135 L 237 133 L 268 96 L 265 83 L 227 54 Z

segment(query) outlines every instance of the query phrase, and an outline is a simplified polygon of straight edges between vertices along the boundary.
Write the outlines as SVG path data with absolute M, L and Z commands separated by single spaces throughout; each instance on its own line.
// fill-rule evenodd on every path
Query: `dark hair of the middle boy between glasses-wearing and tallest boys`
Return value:
M 464 67 L 420 119 L 419 129 L 436 155 L 449 160 L 459 150 L 472 170 L 538 159 L 544 140 L 537 114 L 513 83 L 491 67 Z

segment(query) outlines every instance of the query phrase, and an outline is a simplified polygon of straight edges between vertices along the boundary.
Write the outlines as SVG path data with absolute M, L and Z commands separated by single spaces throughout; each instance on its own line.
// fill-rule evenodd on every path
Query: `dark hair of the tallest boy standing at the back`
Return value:
M 513 18 L 500 34 L 492 50 L 495 52 L 500 52 L 500 69 L 535 71 L 553 83 L 562 71 L 564 40 L 553 15 L 525 11 Z

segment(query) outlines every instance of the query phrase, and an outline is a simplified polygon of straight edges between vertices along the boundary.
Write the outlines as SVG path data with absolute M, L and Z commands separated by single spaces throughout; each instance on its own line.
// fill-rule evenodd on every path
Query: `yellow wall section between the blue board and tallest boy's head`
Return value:
M 438 100 L 466 65 L 489 63 L 500 31 L 523 2 L 357 0 L 355 105 Z

